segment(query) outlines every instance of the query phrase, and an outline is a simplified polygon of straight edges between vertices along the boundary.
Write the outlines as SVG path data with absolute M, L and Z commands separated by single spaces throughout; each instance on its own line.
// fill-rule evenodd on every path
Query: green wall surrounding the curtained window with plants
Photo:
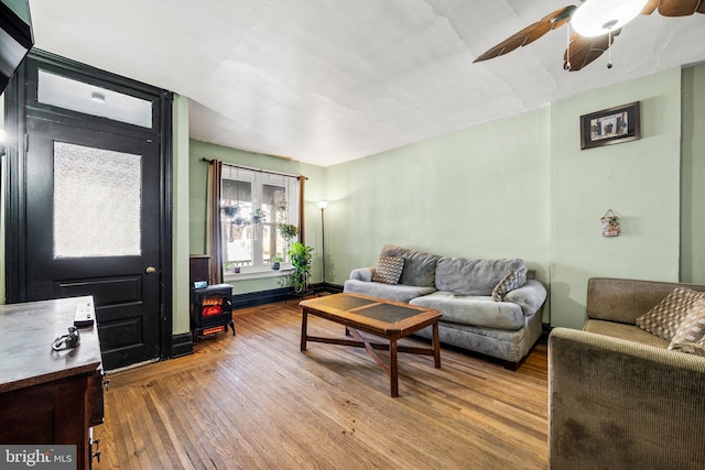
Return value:
M 288 159 L 271 155 L 262 155 L 242 150 L 230 149 L 221 145 L 191 140 L 188 162 L 188 221 L 189 221 L 189 251 L 191 254 L 204 254 L 206 247 L 206 173 L 207 164 L 202 159 L 217 159 L 224 163 L 268 170 L 272 172 L 305 175 L 307 177 L 304 190 L 304 237 L 305 243 L 314 247 L 314 266 L 312 269 L 312 282 L 321 282 L 321 255 L 319 232 L 321 211 L 315 203 L 324 196 L 323 181 L 325 168 L 316 165 L 307 165 Z M 245 294 L 258 291 L 268 291 L 282 287 L 281 277 L 265 277 L 242 281 L 228 281 L 235 286 L 236 294 Z

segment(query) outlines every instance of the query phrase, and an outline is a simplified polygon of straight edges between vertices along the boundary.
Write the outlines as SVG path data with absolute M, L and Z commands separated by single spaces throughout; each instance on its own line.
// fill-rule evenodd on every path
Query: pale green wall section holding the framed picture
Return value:
M 680 90 L 672 69 L 553 103 L 553 326 L 583 326 L 592 276 L 677 281 Z M 641 140 L 581 151 L 581 114 L 631 101 L 641 101 Z M 601 237 L 608 209 L 620 237 Z

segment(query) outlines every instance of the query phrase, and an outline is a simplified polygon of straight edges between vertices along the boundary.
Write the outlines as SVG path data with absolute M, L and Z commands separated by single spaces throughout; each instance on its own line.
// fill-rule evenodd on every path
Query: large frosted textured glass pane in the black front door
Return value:
M 142 156 L 54 143 L 54 258 L 141 254 Z

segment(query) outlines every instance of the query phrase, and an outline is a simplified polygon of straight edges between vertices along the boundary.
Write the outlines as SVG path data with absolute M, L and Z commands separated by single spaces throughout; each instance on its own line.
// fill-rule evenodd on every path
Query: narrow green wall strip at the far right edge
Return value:
M 681 280 L 705 284 L 705 64 L 683 70 L 682 103 Z

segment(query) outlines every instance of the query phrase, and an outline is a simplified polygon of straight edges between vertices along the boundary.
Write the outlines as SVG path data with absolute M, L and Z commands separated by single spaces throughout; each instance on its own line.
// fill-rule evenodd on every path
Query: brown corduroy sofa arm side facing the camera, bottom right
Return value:
M 705 358 L 554 328 L 550 467 L 693 468 L 705 461 L 703 396 Z

